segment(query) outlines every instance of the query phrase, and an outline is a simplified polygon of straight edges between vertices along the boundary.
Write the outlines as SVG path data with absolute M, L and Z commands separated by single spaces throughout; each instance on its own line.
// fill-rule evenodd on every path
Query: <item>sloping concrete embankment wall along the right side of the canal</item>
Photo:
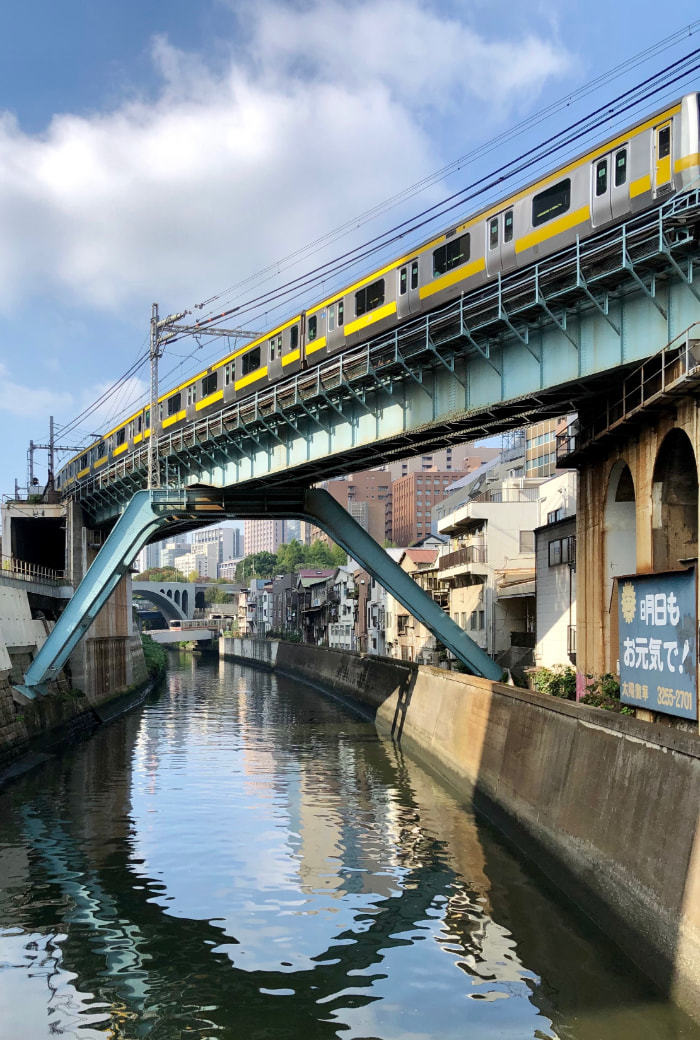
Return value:
M 386 658 L 228 638 L 219 650 L 363 705 L 700 1019 L 696 734 Z

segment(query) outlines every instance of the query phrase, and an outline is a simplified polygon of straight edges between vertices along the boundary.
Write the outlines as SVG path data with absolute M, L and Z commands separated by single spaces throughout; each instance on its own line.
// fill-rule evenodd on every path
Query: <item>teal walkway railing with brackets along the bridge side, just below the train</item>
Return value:
M 554 322 L 578 348 L 574 332 L 567 328 L 567 307 L 590 305 L 620 333 L 612 316 L 611 294 L 626 280 L 639 287 L 641 274 L 659 266 L 679 270 L 673 251 L 692 248 L 689 222 L 700 207 L 700 188 L 667 201 L 657 209 L 631 217 L 614 228 L 562 250 L 538 263 L 499 275 L 478 289 L 436 311 L 412 318 L 391 332 L 349 347 L 317 366 L 296 372 L 282 382 L 255 391 L 212 416 L 192 419 L 177 431 L 158 438 L 163 486 L 181 487 L 190 469 L 202 459 L 211 459 L 210 446 L 219 444 L 235 461 L 247 460 L 245 438 L 259 444 L 261 438 L 281 442 L 285 431 L 299 433 L 300 417 L 318 421 L 320 412 L 337 416 L 344 397 L 364 401 L 369 390 L 393 393 L 401 381 L 426 389 L 426 367 L 444 366 L 455 371 L 458 355 L 481 357 L 494 364 L 492 344 L 500 338 L 520 342 L 538 356 L 530 344 L 530 329 L 541 319 Z M 685 277 L 682 271 L 681 276 Z M 649 290 L 643 285 L 647 293 Z M 365 406 L 367 407 L 367 406 Z M 130 497 L 144 487 L 148 470 L 148 443 L 112 463 L 96 476 L 83 480 L 68 494 L 78 494 L 86 505 L 102 499 L 107 510 L 119 512 L 122 496 Z M 118 491 L 112 486 L 119 484 Z

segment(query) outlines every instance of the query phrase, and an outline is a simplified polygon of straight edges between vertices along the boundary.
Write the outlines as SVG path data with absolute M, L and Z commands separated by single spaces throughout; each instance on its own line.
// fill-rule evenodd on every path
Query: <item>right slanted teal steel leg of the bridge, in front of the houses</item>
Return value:
M 422 622 L 461 660 L 472 675 L 500 679 L 502 669 L 470 640 L 448 614 L 438 606 L 410 574 L 403 571 L 366 530 L 336 502 L 328 491 L 310 488 L 304 496 L 305 513 L 353 560 L 377 578 L 410 614 Z

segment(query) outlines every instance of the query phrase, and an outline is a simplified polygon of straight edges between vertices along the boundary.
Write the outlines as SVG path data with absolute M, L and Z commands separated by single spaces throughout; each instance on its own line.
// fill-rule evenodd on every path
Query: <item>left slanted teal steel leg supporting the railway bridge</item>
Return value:
M 133 496 L 29 666 L 24 685 L 18 685 L 25 697 L 46 693 L 44 683 L 58 675 L 136 553 L 158 527 L 167 523 L 167 514 L 154 509 L 165 497 L 162 491 L 138 491 Z

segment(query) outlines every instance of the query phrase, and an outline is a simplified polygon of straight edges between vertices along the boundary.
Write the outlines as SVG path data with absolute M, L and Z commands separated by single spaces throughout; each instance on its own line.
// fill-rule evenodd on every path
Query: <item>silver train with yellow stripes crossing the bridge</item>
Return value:
M 333 293 L 158 398 L 155 435 L 210 415 L 322 359 L 658 205 L 700 176 L 700 95 L 479 210 L 417 249 Z M 142 446 L 150 408 L 128 416 L 57 475 L 73 488 Z

